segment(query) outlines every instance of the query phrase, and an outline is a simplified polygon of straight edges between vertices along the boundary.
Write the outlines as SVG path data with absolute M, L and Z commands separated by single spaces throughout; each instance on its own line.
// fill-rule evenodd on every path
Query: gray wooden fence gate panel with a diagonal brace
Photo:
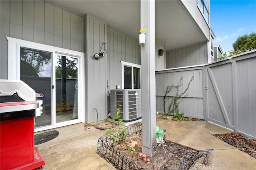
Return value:
M 233 129 L 232 63 L 230 60 L 204 66 L 205 119 Z

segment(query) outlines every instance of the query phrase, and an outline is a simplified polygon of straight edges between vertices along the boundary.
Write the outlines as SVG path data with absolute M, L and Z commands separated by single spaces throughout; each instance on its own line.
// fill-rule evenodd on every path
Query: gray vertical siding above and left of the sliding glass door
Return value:
M 0 1 L 0 78 L 8 78 L 6 37 L 84 52 L 84 17 L 48 2 Z

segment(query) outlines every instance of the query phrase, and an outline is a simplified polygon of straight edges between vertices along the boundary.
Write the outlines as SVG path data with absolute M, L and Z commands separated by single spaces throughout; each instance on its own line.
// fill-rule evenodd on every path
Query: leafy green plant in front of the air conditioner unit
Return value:
M 118 105 L 119 107 L 121 107 L 122 105 Z M 114 133 L 120 133 L 122 135 L 126 135 L 128 134 L 128 131 L 127 129 L 124 127 L 124 125 L 122 125 L 122 122 L 123 120 L 122 119 L 119 119 L 120 118 L 120 113 L 121 113 L 121 110 L 120 109 L 117 109 L 116 110 L 116 115 L 112 118 L 112 120 L 117 120 L 117 125 L 118 125 L 118 129 L 109 129 L 108 131 L 106 131 L 105 135 L 108 136 L 110 134 L 114 134 Z M 115 141 L 119 141 L 121 138 L 121 136 L 114 136 L 114 140 Z

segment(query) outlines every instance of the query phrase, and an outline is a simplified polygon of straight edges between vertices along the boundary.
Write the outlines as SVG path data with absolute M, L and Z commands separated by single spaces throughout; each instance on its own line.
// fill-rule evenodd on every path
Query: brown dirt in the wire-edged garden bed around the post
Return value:
M 130 147 L 127 146 L 127 143 L 131 139 L 137 142 L 133 153 L 131 153 Z M 123 155 L 128 156 L 130 161 L 134 161 L 139 168 L 144 168 L 145 170 L 189 169 L 194 161 L 197 160 L 197 157 L 200 158 L 200 156 L 203 155 L 196 150 L 184 148 L 176 143 L 165 140 L 164 145 L 154 147 L 152 152 L 153 156 L 148 157 L 150 161 L 147 163 L 138 156 L 139 152 L 142 150 L 141 133 L 127 138 L 126 141 L 116 145 L 116 147 L 121 149 Z M 207 156 L 204 156 L 206 164 L 209 163 L 207 162 L 207 158 Z

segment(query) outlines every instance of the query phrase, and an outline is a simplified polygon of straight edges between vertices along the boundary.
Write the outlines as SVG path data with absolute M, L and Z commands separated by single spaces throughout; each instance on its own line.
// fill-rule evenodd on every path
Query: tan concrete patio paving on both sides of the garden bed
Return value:
M 206 121 L 170 121 L 157 118 L 157 125 L 166 129 L 166 139 L 196 150 L 214 149 L 210 166 L 197 164 L 191 169 L 256 170 L 256 159 L 216 139 L 211 134 L 230 133 L 228 129 Z M 37 145 L 45 161 L 44 170 L 113 170 L 110 163 L 96 151 L 97 141 L 106 130 L 84 123 L 56 129 L 60 135 Z M 38 132 L 42 133 L 42 132 Z M 36 133 L 37 134 L 37 133 Z

